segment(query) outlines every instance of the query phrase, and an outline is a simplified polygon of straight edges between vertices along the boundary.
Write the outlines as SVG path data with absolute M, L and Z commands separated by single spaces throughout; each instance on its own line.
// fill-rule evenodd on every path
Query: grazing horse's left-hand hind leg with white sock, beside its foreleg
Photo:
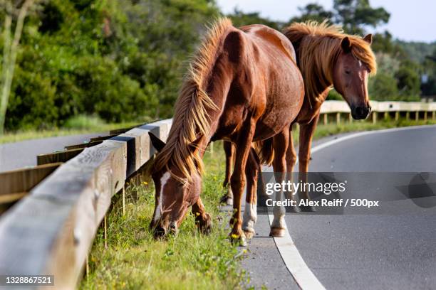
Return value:
M 260 161 L 259 157 L 253 148 L 250 150 L 249 158 L 246 161 L 245 176 L 246 176 L 246 194 L 245 194 L 245 209 L 244 221 L 242 222 L 242 230 L 244 230 L 247 239 L 254 236 L 254 223 L 257 219 L 257 176 L 259 174 Z

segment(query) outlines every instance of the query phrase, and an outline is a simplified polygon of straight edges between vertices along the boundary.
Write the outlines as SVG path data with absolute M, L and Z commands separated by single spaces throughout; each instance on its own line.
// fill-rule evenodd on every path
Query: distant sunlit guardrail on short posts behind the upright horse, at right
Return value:
M 395 120 L 400 118 L 400 114 L 404 114 L 406 119 L 413 117 L 418 119 L 436 119 L 436 102 L 377 102 L 370 101 L 372 107 L 372 120 L 376 123 L 379 114 L 383 113 L 383 118 L 389 117 L 391 114 Z M 320 122 L 328 124 L 328 115 L 336 115 L 336 124 L 341 123 L 341 116 L 348 114 L 348 120 L 351 122 L 350 107 L 344 101 L 326 101 L 321 106 Z M 412 116 L 411 116 L 412 115 Z

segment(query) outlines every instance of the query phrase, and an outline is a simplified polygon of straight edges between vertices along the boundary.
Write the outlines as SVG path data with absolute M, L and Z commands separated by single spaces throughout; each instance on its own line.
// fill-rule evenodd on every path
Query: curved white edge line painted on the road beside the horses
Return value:
M 316 151 L 320 151 L 321 149 L 325 149 L 328 146 L 332 146 L 334 144 L 338 144 L 342 141 L 346 141 L 348 139 L 353 139 L 359 136 L 365 136 L 369 134 L 380 134 L 380 133 L 390 133 L 394 131 L 405 131 L 419 128 L 427 128 L 430 126 L 410 126 L 410 127 L 401 127 L 401 128 L 393 128 L 393 129 L 383 129 L 383 130 L 375 130 L 375 131 L 363 131 L 354 134 L 350 134 L 347 136 L 339 137 L 338 139 L 334 139 L 331 141 L 327 141 L 326 143 L 319 144 L 311 149 L 311 153 Z M 296 163 L 299 160 L 297 159 Z M 269 224 L 271 225 L 274 215 L 268 215 Z M 297 249 L 294 241 L 289 235 L 289 230 L 286 230 L 284 237 L 274 237 L 274 242 L 276 243 L 277 249 L 279 249 L 281 258 L 286 264 L 286 268 L 288 268 L 291 275 L 294 277 L 297 284 L 299 284 L 301 289 L 326 289 L 323 284 L 316 278 L 315 274 L 309 269 L 306 262 L 304 262 L 303 257 Z

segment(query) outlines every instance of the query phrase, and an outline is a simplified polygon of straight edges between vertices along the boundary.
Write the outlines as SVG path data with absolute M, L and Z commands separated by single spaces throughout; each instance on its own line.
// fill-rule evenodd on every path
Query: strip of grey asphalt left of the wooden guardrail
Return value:
M 63 150 L 65 146 L 81 144 L 84 141 L 89 141 L 90 138 L 103 135 L 106 134 L 59 136 L 0 144 L 0 172 L 35 166 L 36 156 L 39 154 Z

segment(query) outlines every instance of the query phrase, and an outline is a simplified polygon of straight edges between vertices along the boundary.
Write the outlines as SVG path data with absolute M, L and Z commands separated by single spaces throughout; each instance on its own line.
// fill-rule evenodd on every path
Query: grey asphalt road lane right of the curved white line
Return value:
M 435 144 L 435 126 L 357 136 L 313 152 L 309 170 L 382 177 L 382 172 L 436 172 Z M 375 194 L 370 188 L 357 188 L 346 198 L 385 198 L 383 190 Z M 428 202 L 422 199 L 423 205 Z M 436 207 L 391 200 L 383 214 L 297 213 L 286 215 L 286 224 L 326 289 L 436 288 Z

